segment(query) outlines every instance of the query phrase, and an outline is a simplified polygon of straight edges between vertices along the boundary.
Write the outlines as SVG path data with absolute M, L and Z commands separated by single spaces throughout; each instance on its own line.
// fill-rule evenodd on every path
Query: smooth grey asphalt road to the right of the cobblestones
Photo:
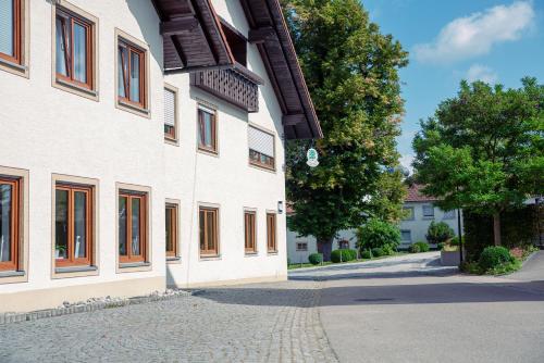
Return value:
M 544 252 L 507 278 L 458 275 L 437 253 L 293 272 L 322 283 L 341 362 L 544 362 Z

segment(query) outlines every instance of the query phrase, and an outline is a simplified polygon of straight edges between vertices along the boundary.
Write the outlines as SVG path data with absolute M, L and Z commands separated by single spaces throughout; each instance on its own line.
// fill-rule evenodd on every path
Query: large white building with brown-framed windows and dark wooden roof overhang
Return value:
M 320 136 L 277 0 L 0 1 L 0 312 L 286 278 Z

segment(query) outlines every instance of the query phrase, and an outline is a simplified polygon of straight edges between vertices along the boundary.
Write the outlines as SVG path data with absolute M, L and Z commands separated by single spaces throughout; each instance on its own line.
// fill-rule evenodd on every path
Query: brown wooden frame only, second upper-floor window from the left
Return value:
M 57 73 L 57 70 L 54 70 L 55 73 L 55 79 L 64 83 L 72 84 L 76 87 L 85 88 L 88 90 L 95 90 L 95 83 L 94 83 L 94 70 L 95 70 L 95 49 L 94 49 L 94 27 L 95 23 L 91 22 L 88 18 L 85 18 L 84 16 L 76 14 L 65 8 L 62 7 L 57 7 L 55 10 L 55 17 L 54 21 L 57 22 L 57 18 L 61 18 L 63 23 L 63 41 L 64 45 L 66 45 L 70 41 L 70 54 L 69 52 L 65 52 L 65 67 L 66 67 L 66 73 L 67 76 L 64 76 L 62 74 Z M 67 39 L 67 35 L 65 34 L 65 21 L 70 22 L 70 27 L 71 27 L 71 35 L 72 37 Z M 74 78 L 74 62 L 72 61 L 74 58 L 74 25 L 78 24 L 83 26 L 86 30 L 86 39 L 85 39 L 85 45 L 86 45 L 86 78 L 87 82 L 83 83 Z M 54 24 L 54 32 L 57 32 L 57 23 Z M 57 37 L 54 37 L 54 41 L 57 42 Z M 57 45 L 54 48 L 57 52 Z M 54 55 L 57 57 L 57 54 Z

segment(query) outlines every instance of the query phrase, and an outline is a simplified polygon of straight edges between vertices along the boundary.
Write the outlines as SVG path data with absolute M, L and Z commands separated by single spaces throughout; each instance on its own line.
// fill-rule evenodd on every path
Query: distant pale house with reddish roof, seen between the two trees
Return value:
M 426 241 L 426 230 L 432 221 L 447 223 L 455 234 L 459 235 L 457 211 L 445 212 L 435 206 L 436 198 L 424 196 L 421 189 L 422 186 L 417 184 L 408 189 L 403 209 L 409 211 L 409 214 L 400 222 L 400 248 L 408 248 L 417 241 Z

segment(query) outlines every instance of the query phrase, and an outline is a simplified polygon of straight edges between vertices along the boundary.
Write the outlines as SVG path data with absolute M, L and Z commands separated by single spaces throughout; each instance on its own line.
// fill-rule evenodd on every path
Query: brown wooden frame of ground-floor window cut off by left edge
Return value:
M 0 184 L 10 185 L 12 187 L 12 205 L 11 205 L 11 259 L 10 261 L 0 262 L 1 271 L 18 271 L 20 270 L 20 236 L 21 236 L 21 178 L 0 176 Z

